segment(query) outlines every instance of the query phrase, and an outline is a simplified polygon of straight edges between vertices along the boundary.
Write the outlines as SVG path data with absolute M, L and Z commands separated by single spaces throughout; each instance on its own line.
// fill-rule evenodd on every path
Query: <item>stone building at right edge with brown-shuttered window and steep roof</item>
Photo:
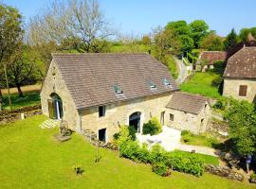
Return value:
M 256 101 L 256 47 L 243 47 L 228 60 L 223 95 Z

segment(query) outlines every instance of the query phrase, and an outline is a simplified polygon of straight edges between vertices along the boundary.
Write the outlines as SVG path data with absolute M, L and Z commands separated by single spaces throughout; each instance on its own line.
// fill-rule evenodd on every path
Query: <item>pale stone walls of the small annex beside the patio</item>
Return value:
M 210 120 L 210 105 L 207 103 L 207 107 L 204 108 L 199 114 L 193 114 L 190 112 L 180 112 L 169 109 L 168 120 L 166 125 L 174 129 L 190 130 L 194 134 L 206 132 Z M 174 121 L 170 120 L 170 113 L 174 114 Z M 201 123 L 201 120 L 203 122 Z

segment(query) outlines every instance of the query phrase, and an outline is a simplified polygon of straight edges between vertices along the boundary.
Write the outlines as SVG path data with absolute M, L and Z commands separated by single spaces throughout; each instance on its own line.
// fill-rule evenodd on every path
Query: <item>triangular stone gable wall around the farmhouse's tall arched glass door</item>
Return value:
M 67 90 L 57 64 L 54 61 L 51 62 L 48 68 L 46 79 L 43 83 L 40 94 L 42 111 L 46 116 L 49 115 L 47 100 L 50 99 L 50 94 L 52 93 L 56 93 L 62 98 L 64 110 L 63 118 L 67 121 L 69 129 L 80 131 L 79 114 L 76 110 L 71 94 L 69 94 L 69 91 Z

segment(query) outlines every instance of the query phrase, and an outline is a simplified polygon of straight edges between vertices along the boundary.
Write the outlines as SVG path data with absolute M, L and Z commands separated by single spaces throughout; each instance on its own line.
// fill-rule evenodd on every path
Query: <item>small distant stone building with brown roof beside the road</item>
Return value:
M 228 54 L 225 51 L 202 51 L 196 62 L 196 70 L 205 72 L 214 68 L 217 61 L 226 61 Z M 202 67 L 203 66 L 203 67 Z

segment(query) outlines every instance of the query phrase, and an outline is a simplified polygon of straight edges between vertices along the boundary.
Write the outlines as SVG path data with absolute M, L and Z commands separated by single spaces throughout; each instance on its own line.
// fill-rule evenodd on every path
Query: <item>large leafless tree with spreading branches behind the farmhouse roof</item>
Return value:
M 94 52 L 99 42 L 114 34 L 97 0 L 69 0 L 52 3 L 42 15 L 30 21 L 31 43 L 62 43 L 78 39 L 77 50 Z

